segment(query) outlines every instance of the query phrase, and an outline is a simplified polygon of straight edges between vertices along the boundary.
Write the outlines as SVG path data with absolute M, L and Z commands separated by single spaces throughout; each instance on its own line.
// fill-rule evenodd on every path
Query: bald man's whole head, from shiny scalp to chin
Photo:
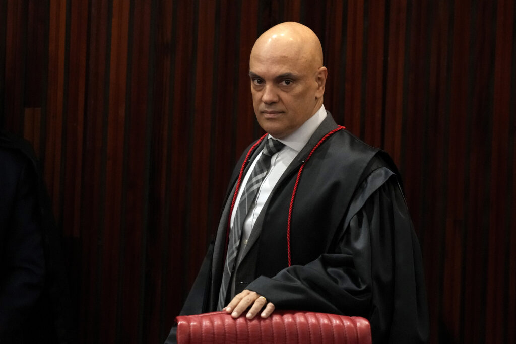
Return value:
M 286 22 L 265 31 L 249 58 L 260 126 L 276 138 L 294 133 L 322 106 L 327 73 L 321 44 L 310 28 Z

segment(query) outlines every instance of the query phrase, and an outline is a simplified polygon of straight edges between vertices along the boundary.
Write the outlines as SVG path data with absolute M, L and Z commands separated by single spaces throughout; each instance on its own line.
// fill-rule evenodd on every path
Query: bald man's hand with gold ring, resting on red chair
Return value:
M 231 313 L 233 318 L 238 318 L 247 308 L 249 308 L 249 306 L 251 306 L 251 309 L 247 312 L 247 319 L 253 319 L 264 306 L 265 309 L 260 316 L 265 319 L 272 314 L 275 308 L 272 302 L 267 302 L 267 299 L 259 293 L 246 289 L 243 292 L 236 294 L 229 305 L 222 308 L 222 310 L 228 314 Z

